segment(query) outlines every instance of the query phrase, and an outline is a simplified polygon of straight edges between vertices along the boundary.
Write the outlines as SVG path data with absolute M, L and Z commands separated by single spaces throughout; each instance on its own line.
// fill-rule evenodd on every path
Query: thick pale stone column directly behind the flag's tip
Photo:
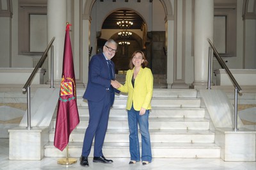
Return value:
M 54 45 L 54 83 L 61 81 L 63 65 L 63 49 L 65 41 L 65 29 L 67 25 L 67 0 L 48 0 L 47 1 L 47 42 L 53 37 Z M 49 53 L 50 54 L 50 53 Z M 51 83 L 51 56 L 48 56 L 48 80 Z

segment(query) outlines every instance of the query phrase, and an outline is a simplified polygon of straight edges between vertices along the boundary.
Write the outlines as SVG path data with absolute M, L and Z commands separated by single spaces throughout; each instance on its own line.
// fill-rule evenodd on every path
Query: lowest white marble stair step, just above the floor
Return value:
M 83 143 L 69 143 L 70 157 L 80 157 Z M 214 143 L 152 143 L 154 158 L 220 158 L 220 147 Z M 130 157 L 129 143 L 104 143 L 105 157 Z M 60 151 L 53 143 L 45 145 L 45 157 L 66 157 L 66 150 Z M 93 157 L 93 146 L 89 157 Z

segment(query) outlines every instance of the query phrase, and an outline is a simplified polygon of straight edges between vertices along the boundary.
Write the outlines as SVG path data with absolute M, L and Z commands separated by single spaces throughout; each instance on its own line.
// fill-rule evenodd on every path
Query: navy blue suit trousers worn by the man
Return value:
M 92 102 L 88 100 L 90 119 L 84 134 L 82 150 L 83 157 L 89 156 L 90 150 L 92 148 L 93 137 L 95 138 L 93 156 L 103 156 L 102 146 L 108 128 L 110 97 L 111 93 L 110 91 L 107 91 L 106 97 L 104 97 L 100 102 Z

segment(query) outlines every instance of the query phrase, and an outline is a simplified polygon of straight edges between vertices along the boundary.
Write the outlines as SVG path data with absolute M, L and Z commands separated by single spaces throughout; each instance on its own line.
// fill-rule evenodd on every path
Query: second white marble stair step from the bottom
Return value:
M 210 130 L 154 130 L 150 131 L 151 143 L 214 143 L 214 133 Z M 70 142 L 83 142 L 84 129 L 74 129 Z M 141 135 L 139 134 L 141 140 Z M 54 130 L 49 134 L 49 141 L 54 141 Z M 108 129 L 105 142 L 129 142 L 129 130 Z

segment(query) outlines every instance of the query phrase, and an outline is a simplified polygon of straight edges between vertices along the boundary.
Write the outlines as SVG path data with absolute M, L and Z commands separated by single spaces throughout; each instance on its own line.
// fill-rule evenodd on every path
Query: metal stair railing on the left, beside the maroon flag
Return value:
M 51 48 L 51 88 L 53 88 L 53 45 L 52 43 L 54 42 L 55 37 L 52 38 L 51 42 L 47 45 L 44 54 L 42 55 L 42 57 L 40 58 L 40 60 L 38 61 L 37 65 L 35 66 L 33 72 L 31 73 L 31 75 L 28 78 L 28 81 L 26 82 L 26 84 L 23 86 L 22 91 L 24 93 L 27 92 L 27 114 L 28 114 L 28 130 L 31 129 L 31 114 L 30 114 L 30 85 L 31 82 L 33 81 L 36 72 L 38 71 L 38 68 L 40 68 L 42 66 L 42 64 L 44 63 L 45 59 L 47 58 L 47 53 L 49 51 L 49 49 Z

